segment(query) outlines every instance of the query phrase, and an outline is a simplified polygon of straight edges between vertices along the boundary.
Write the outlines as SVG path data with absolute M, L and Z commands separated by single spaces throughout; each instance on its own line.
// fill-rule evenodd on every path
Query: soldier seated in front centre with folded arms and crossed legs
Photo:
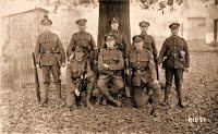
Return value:
M 120 93 L 121 89 L 123 89 L 124 84 L 121 71 L 124 68 L 124 59 L 122 52 L 114 48 L 116 45 L 114 35 L 109 34 L 105 36 L 105 41 L 107 48 L 102 49 L 98 56 L 99 78 L 97 86 L 106 99 L 112 101 L 118 107 L 120 107 L 121 101 L 116 100 L 109 94 L 108 84 L 110 82 L 113 84 L 111 93 L 113 95 Z

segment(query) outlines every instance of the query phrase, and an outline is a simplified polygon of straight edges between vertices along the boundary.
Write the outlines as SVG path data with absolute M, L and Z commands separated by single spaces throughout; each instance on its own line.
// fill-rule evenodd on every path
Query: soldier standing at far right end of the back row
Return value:
M 185 108 L 182 103 L 182 83 L 183 83 L 183 71 L 189 72 L 190 68 L 190 52 L 186 41 L 179 37 L 179 23 L 172 23 L 169 25 L 172 36 L 167 38 L 162 45 L 158 64 L 162 62 L 166 69 L 166 89 L 165 89 L 165 100 L 162 105 L 168 105 L 169 93 L 172 86 L 172 80 L 174 76 L 174 83 L 177 87 L 179 106 Z

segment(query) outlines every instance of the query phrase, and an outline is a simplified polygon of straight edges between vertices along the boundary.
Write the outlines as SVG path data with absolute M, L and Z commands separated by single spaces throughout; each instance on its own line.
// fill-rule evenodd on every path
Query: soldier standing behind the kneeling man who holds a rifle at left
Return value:
M 95 44 L 95 40 L 93 36 L 85 32 L 86 28 L 86 22 L 87 20 L 85 19 L 80 19 L 75 23 L 77 24 L 78 27 L 78 33 L 75 33 L 71 37 L 70 45 L 66 50 L 66 59 L 69 60 L 71 52 L 75 50 L 76 47 L 83 48 L 85 54 L 90 56 L 90 65 L 92 70 L 95 71 L 95 64 L 97 63 L 97 47 Z

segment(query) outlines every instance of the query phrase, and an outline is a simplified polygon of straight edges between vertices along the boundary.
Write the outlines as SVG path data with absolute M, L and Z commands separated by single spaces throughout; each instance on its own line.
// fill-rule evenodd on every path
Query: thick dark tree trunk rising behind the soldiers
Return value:
M 125 34 L 130 42 L 130 0 L 99 0 L 98 46 L 110 32 L 109 20 L 112 17 L 120 20 L 120 32 Z

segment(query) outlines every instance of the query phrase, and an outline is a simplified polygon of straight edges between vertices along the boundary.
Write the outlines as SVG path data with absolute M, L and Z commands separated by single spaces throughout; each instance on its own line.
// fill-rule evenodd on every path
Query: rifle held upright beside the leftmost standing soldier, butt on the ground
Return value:
M 36 58 L 34 52 L 32 53 L 33 57 L 33 61 L 34 61 L 34 75 L 35 75 L 35 84 L 36 84 L 36 97 L 38 100 L 38 103 L 40 102 L 40 85 L 39 85 L 39 81 L 38 81 L 38 71 L 37 71 L 37 66 L 36 66 Z

